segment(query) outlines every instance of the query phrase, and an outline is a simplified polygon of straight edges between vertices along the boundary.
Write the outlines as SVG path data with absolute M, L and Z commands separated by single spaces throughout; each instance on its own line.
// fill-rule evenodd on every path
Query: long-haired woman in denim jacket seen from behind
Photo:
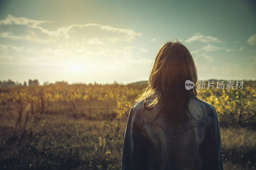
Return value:
M 121 169 L 223 169 L 215 108 L 186 90 L 197 82 L 194 60 L 179 41 L 156 55 L 147 88 L 131 108 Z

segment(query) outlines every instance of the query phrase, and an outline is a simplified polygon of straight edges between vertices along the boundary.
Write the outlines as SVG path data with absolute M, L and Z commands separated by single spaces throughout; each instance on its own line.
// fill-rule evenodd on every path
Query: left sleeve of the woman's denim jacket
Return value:
M 139 115 L 136 108 L 132 107 L 124 133 L 121 169 L 147 168 L 145 153 Z

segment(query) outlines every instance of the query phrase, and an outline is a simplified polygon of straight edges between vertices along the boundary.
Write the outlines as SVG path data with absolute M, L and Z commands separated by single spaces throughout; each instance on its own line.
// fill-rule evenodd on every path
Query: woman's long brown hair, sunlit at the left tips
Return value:
M 151 100 L 145 104 L 151 109 L 163 102 L 163 108 L 169 110 L 172 120 L 179 121 L 182 113 L 188 109 L 190 94 L 197 95 L 196 86 L 191 90 L 185 89 L 185 81 L 197 82 L 197 70 L 192 55 L 180 41 L 166 42 L 158 51 L 154 66 L 149 76 L 144 93 L 135 101 Z M 155 118 L 155 119 L 156 119 Z

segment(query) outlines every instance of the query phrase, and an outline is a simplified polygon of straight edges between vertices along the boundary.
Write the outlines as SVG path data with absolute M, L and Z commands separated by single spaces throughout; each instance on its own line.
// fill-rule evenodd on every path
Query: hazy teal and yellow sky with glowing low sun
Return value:
M 0 1 L 0 80 L 148 80 L 178 39 L 198 78 L 256 79 L 255 1 Z

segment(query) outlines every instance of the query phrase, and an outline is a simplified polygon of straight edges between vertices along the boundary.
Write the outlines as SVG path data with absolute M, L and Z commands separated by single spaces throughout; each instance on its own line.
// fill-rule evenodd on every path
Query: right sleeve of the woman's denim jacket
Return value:
M 202 169 L 223 169 L 220 124 L 214 107 L 211 112 L 212 118 L 200 148 L 203 162 Z

